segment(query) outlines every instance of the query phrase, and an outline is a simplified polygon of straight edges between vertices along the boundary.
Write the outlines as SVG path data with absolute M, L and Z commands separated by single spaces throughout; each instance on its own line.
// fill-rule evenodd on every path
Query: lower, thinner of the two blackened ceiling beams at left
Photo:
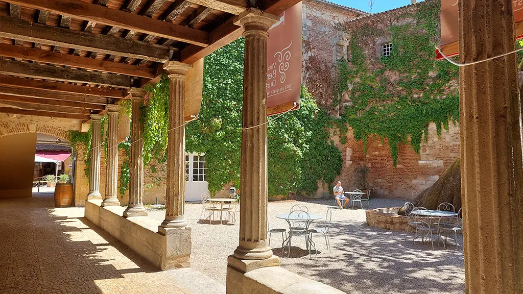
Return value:
M 126 75 L 65 69 L 63 67 L 31 64 L 5 59 L 0 60 L 0 73 L 62 82 L 90 83 L 124 88 L 129 88 L 132 85 L 131 78 Z

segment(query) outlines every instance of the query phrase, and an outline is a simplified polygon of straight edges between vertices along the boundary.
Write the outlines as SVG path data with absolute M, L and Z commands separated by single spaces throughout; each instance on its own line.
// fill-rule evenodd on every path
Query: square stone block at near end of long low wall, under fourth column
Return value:
M 161 269 L 190 267 L 191 228 L 158 227 L 158 234 L 165 235 L 165 255 L 162 256 Z

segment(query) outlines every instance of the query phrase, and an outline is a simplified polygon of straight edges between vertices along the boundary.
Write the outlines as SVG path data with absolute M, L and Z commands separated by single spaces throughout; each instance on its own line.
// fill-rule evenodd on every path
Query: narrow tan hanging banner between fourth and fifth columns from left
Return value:
M 185 80 L 185 121 L 195 120 L 200 114 L 203 95 L 203 58 L 192 64 Z

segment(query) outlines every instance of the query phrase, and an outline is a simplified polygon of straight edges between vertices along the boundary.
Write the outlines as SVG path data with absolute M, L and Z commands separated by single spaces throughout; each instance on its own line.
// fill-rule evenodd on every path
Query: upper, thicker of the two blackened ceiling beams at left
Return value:
M 3 38 L 115 54 L 161 63 L 169 61 L 170 49 L 167 46 L 51 27 L 8 16 L 0 16 L 0 24 L 2 24 L 0 26 L 0 37 Z

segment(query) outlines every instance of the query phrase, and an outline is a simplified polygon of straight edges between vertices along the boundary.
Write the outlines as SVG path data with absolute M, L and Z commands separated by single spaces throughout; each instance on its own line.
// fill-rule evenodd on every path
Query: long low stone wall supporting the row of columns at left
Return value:
M 158 233 L 160 221 L 149 217 L 124 218 L 124 207 L 101 207 L 101 200 L 85 201 L 85 217 L 162 270 L 189 267 L 191 228 Z

